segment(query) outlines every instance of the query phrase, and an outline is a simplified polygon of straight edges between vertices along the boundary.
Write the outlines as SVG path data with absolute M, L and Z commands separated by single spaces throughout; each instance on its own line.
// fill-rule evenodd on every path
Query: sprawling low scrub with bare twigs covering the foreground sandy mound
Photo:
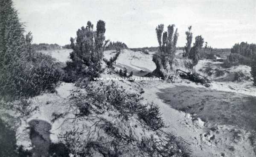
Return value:
M 74 126 L 83 124 L 85 129 L 74 127 L 59 135 L 70 154 L 77 157 L 96 154 L 109 157 L 138 154 L 143 157 L 186 157 L 187 150 L 182 142 L 159 130 L 164 126 L 159 107 L 143 105 L 139 93 L 129 93 L 113 81 L 84 82 L 81 88 L 73 92 L 67 103 L 76 117 L 74 121 L 70 119 Z M 53 119 L 63 118 L 70 111 L 55 113 Z M 137 132 L 144 128 L 144 122 L 149 130 L 162 134 L 158 138 L 161 142 Z

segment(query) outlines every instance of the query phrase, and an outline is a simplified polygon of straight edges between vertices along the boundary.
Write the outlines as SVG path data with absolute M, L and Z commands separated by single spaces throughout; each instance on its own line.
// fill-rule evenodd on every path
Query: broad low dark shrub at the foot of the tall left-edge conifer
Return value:
M 0 70 L 0 95 L 4 99 L 29 98 L 55 89 L 63 74 L 55 60 L 41 53 L 35 53 L 31 60 Z

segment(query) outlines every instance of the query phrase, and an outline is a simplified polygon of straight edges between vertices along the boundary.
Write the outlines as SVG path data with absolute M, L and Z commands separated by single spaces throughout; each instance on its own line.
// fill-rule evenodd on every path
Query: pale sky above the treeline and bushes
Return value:
M 90 20 L 106 22 L 106 39 L 128 47 L 157 46 L 155 27 L 175 24 L 177 46 L 186 43 L 192 25 L 193 40 L 202 35 L 208 45 L 231 48 L 256 43 L 256 0 L 13 0 L 33 43 L 70 44 L 70 37 Z M 194 42 L 194 41 L 193 41 Z

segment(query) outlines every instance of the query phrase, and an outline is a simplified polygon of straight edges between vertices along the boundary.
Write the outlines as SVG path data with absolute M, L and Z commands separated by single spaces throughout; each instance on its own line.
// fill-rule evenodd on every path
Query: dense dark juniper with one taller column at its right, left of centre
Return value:
M 105 22 L 99 20 L 97 22 L 96 31 L 93 31 L 93 24 L 88 21 L 87 26 L 82 26 L 76 32 L 76 41 L 71 38 L 70 53 L 71 61 L 67 61 L 67 76 L 70 80 L 76 81 L 78 78 L 93 78 L 100 77 L 102 73 L 101 61 L 103 52 L 108 41 L 105 41 Z

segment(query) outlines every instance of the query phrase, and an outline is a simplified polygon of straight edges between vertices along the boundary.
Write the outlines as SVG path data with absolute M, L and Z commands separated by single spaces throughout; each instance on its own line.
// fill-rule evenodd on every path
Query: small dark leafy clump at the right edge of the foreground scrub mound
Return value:
M 148 108 L 145 108 L 138 116 L 152 131 L 165 127 L 159 106 L 154 103 L 148 104 Z

